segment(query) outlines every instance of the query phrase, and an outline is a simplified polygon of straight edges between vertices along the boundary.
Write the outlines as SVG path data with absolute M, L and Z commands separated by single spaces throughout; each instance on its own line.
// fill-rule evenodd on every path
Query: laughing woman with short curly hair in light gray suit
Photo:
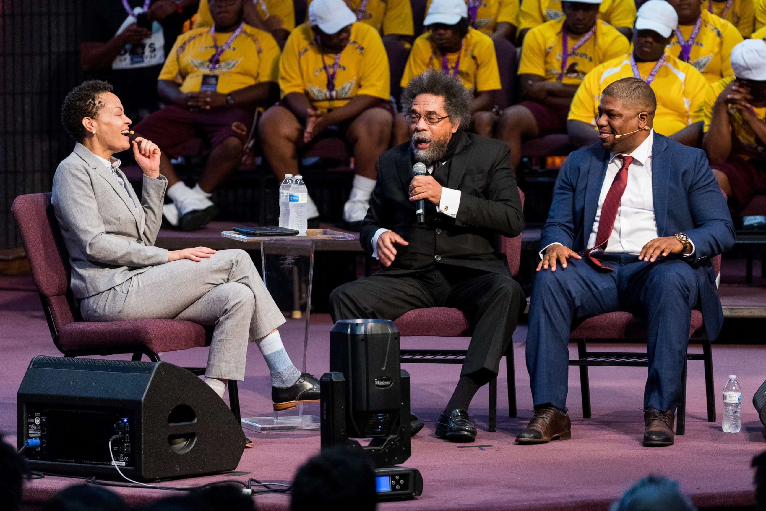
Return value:
M 159 318 L 214 325 L 205 382 L 224 395 L 244 379 L 247 341 L 271 372 L 275 410 L 319 401 L 319 382 L 296 369 L 277 327 L 285 319 L 245 251 L 155 247 L 167 180 L 159 148 L 137 137 L 104 81 L 75 87 L 61 117 L 77 140 L 53 180 L 56 218 L 72 267 L 71 288 L 87 321 Z M 133 148 L 143 171 L 139 199 L 112 155 Z

